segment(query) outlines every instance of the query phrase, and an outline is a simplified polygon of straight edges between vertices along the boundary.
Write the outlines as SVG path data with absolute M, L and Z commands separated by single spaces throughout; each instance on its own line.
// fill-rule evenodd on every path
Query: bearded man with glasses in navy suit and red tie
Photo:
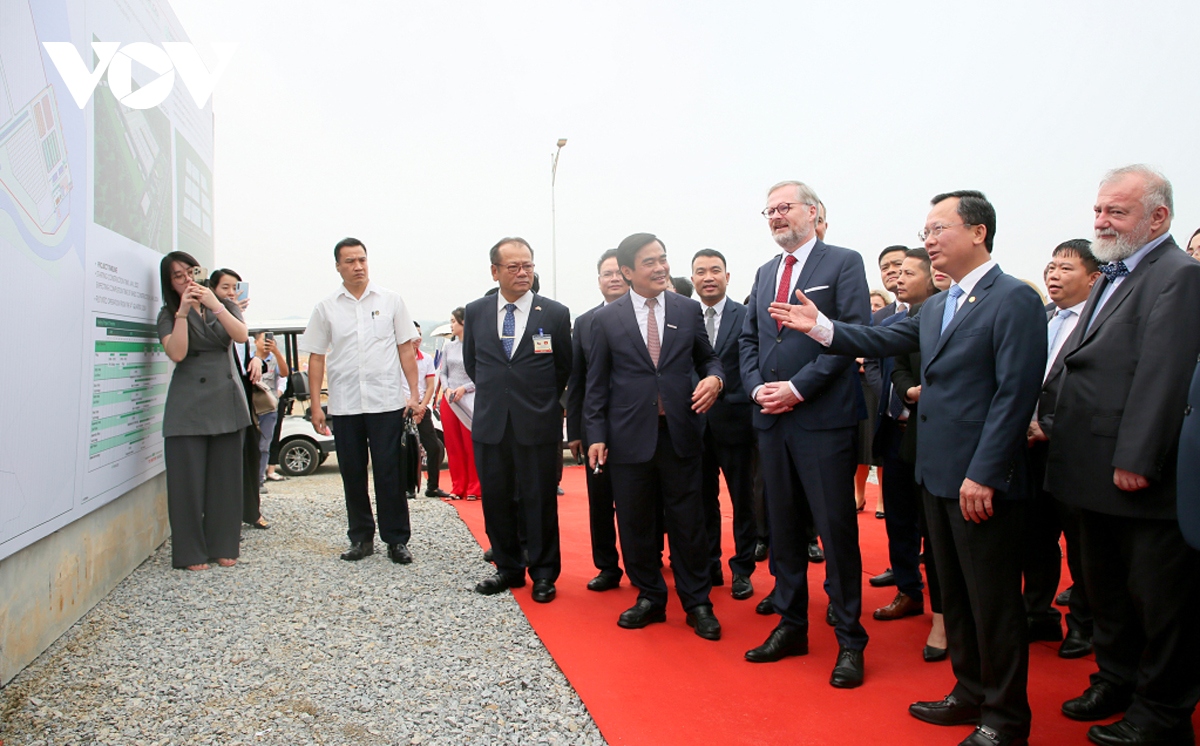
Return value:
M 851 324 L 870 318 L 863 258 L 817 239 L 817 203 L 812 189 L 799 181 L 768 191 L 763 216 L 784 252 L 758 269 L 742 330 L 742 383 L 758 404 L 754 426 L 775 561 L 774 607 L 781 615 L 767 640 L 745 657 L 773 662 L 809 650 L 805 523 L 811 510 L 824 545 L 826 586 L 838 622 L 838 662 L 829 682 L 853 687 L 863 682 L 866 646 L 859 621 L 863 558 L 854 511 L 857 366 L 848 355 L 822 355 L 820 344 L 784 329 L 769 313 L 772 301 L 803 289 L 833 318 Z

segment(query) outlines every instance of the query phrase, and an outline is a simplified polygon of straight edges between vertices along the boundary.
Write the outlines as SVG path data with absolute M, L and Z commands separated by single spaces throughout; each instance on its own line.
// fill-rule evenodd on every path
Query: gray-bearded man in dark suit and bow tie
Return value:
M 1094 616 L 1091 686 L 1063 715 L 1100 745 L 1193 744 L 1200 699 L 1200 553 L 1176 516 L 1176 451 L 1200 354 L 1200 264 L 1169 233 L 1171 185 L 1145 166 L 1105 175 L 1092 253 L 1103 277 L 1063 345 L 1046 486 L 1081 511 Z

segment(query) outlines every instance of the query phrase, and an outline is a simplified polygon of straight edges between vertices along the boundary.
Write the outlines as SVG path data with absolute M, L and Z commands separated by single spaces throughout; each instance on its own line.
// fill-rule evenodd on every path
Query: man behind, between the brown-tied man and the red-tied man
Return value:
M 726 296 L 730 273 L 725 254 L 702 248 L 691 259 L 691 282 L 704 314 L 704 332 L 725 368 L 725 390 L 704 414 L 703 487 L 704 529 L 708 533 L 709 572 L 713 584 L 724 583 L 721 572 L 720 474 L 725 474 L 733 506 L 733 557 L 731 595 L 743 601 L 754 595 L 750 576 L 755 570 L 754 546 L 754 404 L 742 386 L 738 337 L 746 307 Z

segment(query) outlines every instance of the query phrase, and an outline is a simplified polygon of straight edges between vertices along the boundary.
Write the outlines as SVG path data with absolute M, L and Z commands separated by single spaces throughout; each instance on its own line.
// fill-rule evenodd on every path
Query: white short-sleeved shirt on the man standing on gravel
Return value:
M 397 345 L 418 336 L 400 295 L 368 283 L 362 297 L 343 285 L 317 303 L 299 347 L 301 353 L 325 355 L 329 414 L 376 414 L 403 409 Z

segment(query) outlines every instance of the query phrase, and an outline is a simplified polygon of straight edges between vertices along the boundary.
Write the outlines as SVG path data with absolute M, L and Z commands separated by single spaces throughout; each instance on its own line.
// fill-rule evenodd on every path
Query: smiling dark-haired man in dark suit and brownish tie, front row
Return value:
M 700 303 L 667 293 L 666 248 L 636 233 L 617 247 L 630 293 L 596 311 L 583 417 L 588 465 L 608 469 L 625 573 L 637 603 L 617 624 L 637 630 L 666 621 L 667 585 L 658 529 L 661 505 L 676 590 L 688 624 L 720 639 L 709 601 L 708 540 L 700 497 L 701 416 L 721 391 L 721 363 L 708 343 Z M 692 385 L 692 373 L 700 383 Z

